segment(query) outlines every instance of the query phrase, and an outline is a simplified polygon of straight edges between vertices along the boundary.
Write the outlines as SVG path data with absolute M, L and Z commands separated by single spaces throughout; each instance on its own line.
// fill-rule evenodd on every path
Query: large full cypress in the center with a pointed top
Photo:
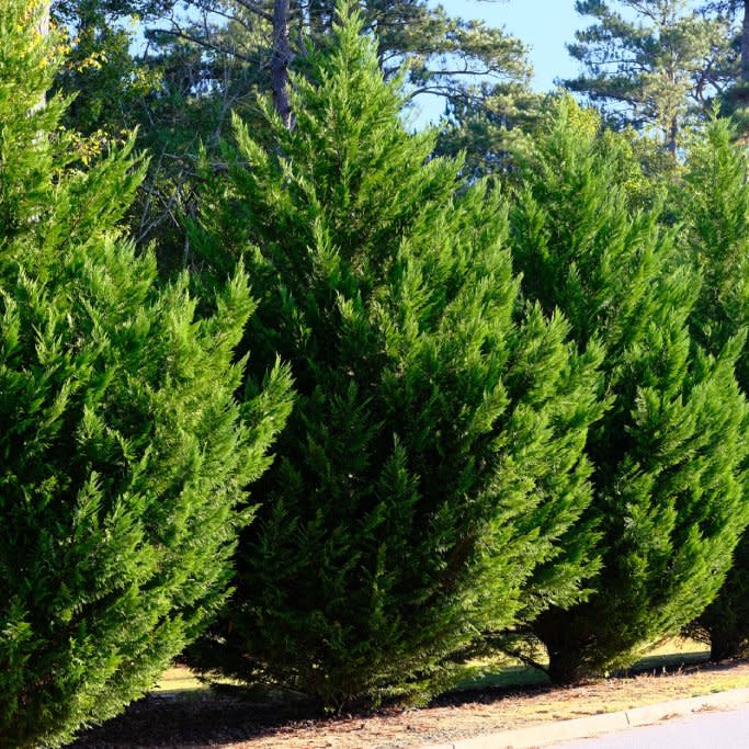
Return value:
M 341 19 L 294 81 L 294 127 L 266 104 L 263 150 L 237 123 L 230 180 L 204 195 L 206 262 L 245 256 L 247 344 L 291 362 L 298 401 L 236 593 L 192 652 L 330 708 L 423 696 L 446 655 L 578 600 L 597 563 L 576 521 L 598 349 L 538 307 L 518 321 L 499 196 L 430 159 L 434 134 L 407 133 L 399 82 Z

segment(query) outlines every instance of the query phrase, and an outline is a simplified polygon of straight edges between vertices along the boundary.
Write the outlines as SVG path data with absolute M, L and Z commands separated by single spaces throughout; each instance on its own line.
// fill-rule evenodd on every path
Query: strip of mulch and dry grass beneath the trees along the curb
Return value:
M 485 688 L 412 711 L 319 718 L 211 691 L 155 693 L 88 731 L 76 749 L 409 749 L 545 720 L 595 715 L 749 686 L 749 662 L 692 665 L 586 686 Z

